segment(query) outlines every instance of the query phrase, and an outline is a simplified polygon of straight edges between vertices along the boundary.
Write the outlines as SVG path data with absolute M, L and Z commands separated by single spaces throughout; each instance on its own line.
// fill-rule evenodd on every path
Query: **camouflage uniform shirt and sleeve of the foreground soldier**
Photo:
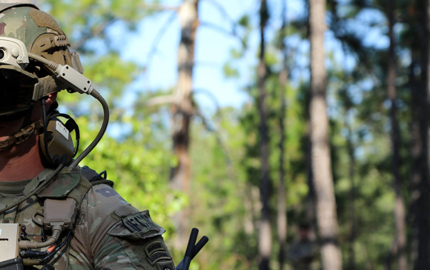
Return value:
M 18 197 L 34 190 L 50 171 L 44 170 L 30 181 Z M 63 173 L 61 178 L 65 177 Z M 0 197 L 0 205 L 10 205 L 16 200 L 17 197 Z M 32 196 L 0 218 L 4 223 L 25 225 L 29 239 L 40 242 L 42 229 L 37 223 L 43 219 L 42 205 L 42 199 Z M 75 223 L 70 245 L 65 245 L 50 261 L 56 269 L 175 269 L 161 236 L 165 230 L 152 221 L 147 210 L 139 212 L 109 185 L 98 184 L 88 190 Z M 62 233 L 61 241 L 67 232 Z

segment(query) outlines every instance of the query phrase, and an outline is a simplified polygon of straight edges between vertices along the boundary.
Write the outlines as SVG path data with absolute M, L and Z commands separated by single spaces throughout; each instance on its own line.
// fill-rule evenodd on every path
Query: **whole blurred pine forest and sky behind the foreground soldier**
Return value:
M 289 269 L 306 221 L 324 269 L 430 268 L 427 0 L 32 2 L 110 104 L 81 165 L 150 209 L 176 263 L 198 227 L 193 270 Z M 83 149 L 101 107 L 59 98 Z

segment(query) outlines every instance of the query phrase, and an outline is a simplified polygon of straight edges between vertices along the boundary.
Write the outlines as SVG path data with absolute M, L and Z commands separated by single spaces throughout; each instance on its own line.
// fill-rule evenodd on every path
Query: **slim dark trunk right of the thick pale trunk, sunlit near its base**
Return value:
M 401 181 L 398 167 L 400 165 L 399 160 L 399 132 L 397 124 L 397 107 L 396 98 L 397 92 L 395 88 L 395 77 L 396 77 L 396 63 L 395 63 L 395 41 L 393 34 L 394 27 L 394 1 L 387 1 L 387 14 L 388 14 L 388 37 L 390 40 L 390 46 L 388 49 L 388 69 L 387 69 L 387 90 L 388 98 L 391 101 L 390 108 L 390 119 L 391 119 L 391 145 L 392 145 L 392 173 L 394 177 L 394 191 L 395 191 L 395 227 L 396 227 L 396 251 L 397 251 L 397 265 L 399 270 L 406 270 L 407 259 L 406 259 L 406 222 L 405 222 L 405 211 L 404 202 L 401 195 Z

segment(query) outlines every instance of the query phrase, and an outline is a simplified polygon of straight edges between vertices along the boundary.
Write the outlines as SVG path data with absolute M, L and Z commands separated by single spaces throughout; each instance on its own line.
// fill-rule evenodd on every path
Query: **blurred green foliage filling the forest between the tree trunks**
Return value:
M 107 134 L 81 165 L 89 165 L 97 171 L 107 170 L 108 178 L 114 180 L 121 195 L 139 209 L 149 208 L 153 219 L 168 229 L 168 243 L 175 233 L 172 216 L 189 204 L 192 209 L 191 224 L 210 238 L 208 245 L 196 257 L 193 269 L 256 269 L 261 206 L 256 67 L 249 66 L 254 73 L 251 78 L 246 78 L 243 87 L 249 101 L 239 108 L 223 107 L 220 109 L 221 116 L 208 117 L 217 132 L 206 130 L 199 120 L 193 122 L 190 140 L 192 196 L 187 197 L 172 190 L 168 183 L 169 169 L 177 162 L 170 150 L 169 112 L 144 106 L 151 95 L 170 92 L 171 89 L 138 94 L 129 107 L 123 107 L 121 98 L 140 70 L 135 64 L 121 59 L 118 49 L 110 46 L 103 28 L 114 21 L 123 21 L 133 30 L 137 22 L 153 10 L 142 8 L 145 3 L 140 0 L 46 0 L 44 3 L 46 10 L 58 18 L 69 33 L 72 43 L 82 42 L 79 48 L 83 52 L 85 74 L 93 80 L 111 107 L 111 124 Z M 420 74 L 416 63 L 419 58 L 409 47 L 419 45 L 420 39 L 416 38 L 419 29 L 416 18 L 410 16 L 413 12 L 409 13 L 413 10 L 410 3 L 396 3 L 400 4 L 398 16 L 402 20 L 402 24 L 398 24 L 401 27 L 398 27 L 400 30 L 396 37 L 400 45 L 396 80 L 402 161 L 399 171 L 404 179 L 402 193 L 406 203 L 410 203 L 412 195 L 408 179 L 413 167 L 410 153 L 410 122 L 413 117 L 409 83 L 411 77 L 419 79 Z M 363 11 L 380 6 L 377 1 L 328 1 L 330 38 L 331 43 L 336 44 L 327 52 L 326 63 L 339 243 L 344 253 L 344 265 L 347 265 L 354 213 L 356 269 L 382 269 L 395 235 L 391 126 L 385 81 L 387 54 L 383 49 L 375 48 L 374 44 L 363 42 L 359 27 L 355 27 L 366 26 L 369 31 L 384 29 L 384 20 L 368 21 L 362 18 Z M 271 11 L 266 9 L 263 15 L 267 16 Z M 252 34 L 258 33 L 257 16 L 256 12 L 244 14 L 236 20 L 236 33 L 242 40 L 242 46 L 232 48 L 230 59 L 220 66 L 228 78 L 243 79 L 239 68 L 241 61 L 247 55 L 255 56 L 257 53 L 247 51 L 253 40 Z M 271 220 L 275 228 L 281 138 L 279 118 L 283 117 L 288 242 L 296 238 L 295 226 L 309 211 L 306 206 L 309 191 L 306 164 L 309 78 L 308 52 L 303 49 L 303 44 L 307 42 L 306 16 L 307 10 L 303 14 L 295 14 L 294 20 L 289 21 L 282 33 L 274 29 L 279 25 L 275 27 L 276 24 L 271 24 L 272 18 L 267 21 L 271 33 L 268 37 L 272 38 L 267 41 L 265 58 L 269 71 L 265 86 L 270 135 Z M 285 33 L 288 36 L 282 40 Z M 103 48 L 106 53 L 91 46 L 95 40 L 106 44 Z M 285 88 L 281 88 L 279 83 L 283 58 L 277 47 L 281 41 L 285 41 L 288 51 L 289 81 Z M 340 58 L 339 53 L 342 54 Z M 410 62 L 409 56 L 414 62 Z M 287 100 L 285 115 L 280 113 L 283 96 Z M 62 110 L 78 116 L 82 150 L 98 131 L 101 107 L 91 97 L 76 93 L 61 92 L 59 100 Z M 355 196 L 354 211 L 351 210 L 352 191 Z M 276 239 L 276 229 L 272 231 L 273 239 Z M 411 242 L 410 235 L 408 237 Z M 406 250 L 409 254 L 412 253 L 410 246 L 408 244 Z M 276 265 L 277 249 L 274 244 L 272 265 Z M 183 250 L 173 251 L 178 256 L 183 254 Z M 179 261 L 178 257 L 175 261 Z

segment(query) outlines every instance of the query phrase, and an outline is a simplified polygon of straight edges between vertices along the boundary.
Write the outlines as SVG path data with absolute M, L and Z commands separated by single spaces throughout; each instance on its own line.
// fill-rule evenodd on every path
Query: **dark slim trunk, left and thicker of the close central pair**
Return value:
M 267 21 L 266 0 L 261 0 L 260 6 L 260 55 L 258 63 L 258 113 L 260 115 L 260 156 L 261 156 L 261 224 L 258 239 L 258 251 L 260 255 L 260 270 L 269 269 L 269 257 L 272 248 L 272 233 L 269 220 L 269 135 L 267 127 L 267 106 L 265 103 L 266 88 L 265 81 L 267 76 L 266 63 L 264 61 L 264 28 Z

